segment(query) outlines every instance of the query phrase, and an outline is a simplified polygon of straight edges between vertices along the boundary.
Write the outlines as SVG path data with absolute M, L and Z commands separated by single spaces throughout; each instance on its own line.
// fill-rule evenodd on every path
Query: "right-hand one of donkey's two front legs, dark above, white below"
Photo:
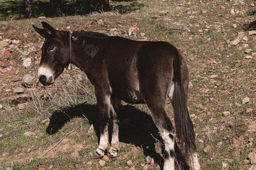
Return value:
M 108 151 L 111 158 L 115 158 L 117 156 L 117 152 L 119 150 L 119 119 L 116 115 L 116 110 L 121 105 L 121 100 L 116 98 L 111 98 L 111 125 L 112 125 L 112 139 L 111 139 L 111 147 Z

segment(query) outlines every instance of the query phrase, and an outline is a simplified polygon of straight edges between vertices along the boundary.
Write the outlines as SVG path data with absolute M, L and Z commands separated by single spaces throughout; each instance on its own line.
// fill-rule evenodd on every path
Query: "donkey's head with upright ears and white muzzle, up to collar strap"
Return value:
M 70 62 L 70 36 L 69 32 L 55 30 L 46 22 L 42 25 L 44 29 L 33 26 L 45 39 L 38 78 L 43 85 L 51 85 Z

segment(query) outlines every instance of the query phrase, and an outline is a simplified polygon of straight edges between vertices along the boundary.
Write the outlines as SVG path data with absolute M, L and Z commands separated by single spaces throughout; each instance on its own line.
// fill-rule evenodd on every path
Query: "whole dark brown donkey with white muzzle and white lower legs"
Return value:
M 175 170 L 175 134 L 167 116 L 166 98 L 172 101 L 177 142 L 189 152 L 192 170 L 200 170 L 193 124 L 187 108 L 189 73 L 185 59 L 168 42 L 133 41 L 90 31 L 58 31 L 42 22 L 35 30 L 45 38 L 38 77 L 43 85 L 52 84 L 70 63 L 87 74 L 94 85 L 100 113 L 100 141 L 96 155 L 108 148 L 119 150 L 118 119 L 115 107 L 121 100 L 146 103 L 165 144 L 164 170 Z

